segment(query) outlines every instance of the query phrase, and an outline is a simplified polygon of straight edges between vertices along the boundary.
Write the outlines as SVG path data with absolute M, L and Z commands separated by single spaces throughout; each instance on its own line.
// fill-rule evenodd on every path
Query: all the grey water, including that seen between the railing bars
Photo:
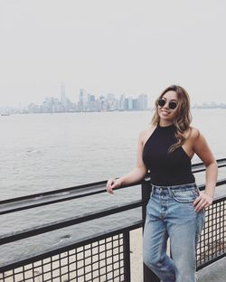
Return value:
M 1 200 L 126 174 L 136 165 L 138 134 L 149 126 L 151 116 L 149 111 L 0 116 Z M 206 137 L 216 158 L 226 156 L 225 119 L 225 109 L 193 110 L 193 127 Z M 198 161 L 193 158 L 193 163 Z M 137 200 L 140 189 L 129 189 L 115 196 L 104 193 L 1 216 L 0 235 L 33 227 L 37 221 L 43 224 Z M 131 218 L 139 220 L 140 213 L 125 212 L 119 223 Z M 108 227 L 109 221 L 105 221 Z M 118 216 L 112 217 L 113 223 L 118 224 Z M 40 235 L 35 241 L 7 244 L 0 249 L 5 254 L 0 262 L 78 239 L 90 227 L 93 232 L 99 230 L 98 221 L 52 231 L 51 236 Z

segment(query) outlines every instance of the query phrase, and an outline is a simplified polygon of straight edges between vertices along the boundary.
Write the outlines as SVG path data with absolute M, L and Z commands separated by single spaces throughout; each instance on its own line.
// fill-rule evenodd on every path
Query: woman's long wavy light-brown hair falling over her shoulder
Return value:
M 172 153 L 179 146 L 183 146 L 185 142 L 184 131 L 190 128 L 190 124 L 192 122 L 192 115 L 190 112 L 190 99 L 187 91 L 178 85 L 172 85 L 166 88 L 155 100 L 155 113 L 152 118 L 152 124 L 156 126 L 160 117 L 158 115 L 158 100 L 163 98 L 166 92 L 174 91 L 177 94 L 177 107 L 175 110 L 174 116 L 174 126 L 176 127 L 175 137 L 177 142 L 170 146 L 169 153 Z

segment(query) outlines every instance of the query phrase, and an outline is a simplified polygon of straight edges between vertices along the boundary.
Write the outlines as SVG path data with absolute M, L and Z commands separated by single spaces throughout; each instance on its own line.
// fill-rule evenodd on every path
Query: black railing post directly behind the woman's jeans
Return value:
M 149 201 L 150 193 L 151 193 L 151 187 L 150 187 L 150 178 L 147 178 L 141 183 L 141 193 L 142 193 L 142 218 L 143 221 L 146 221 L 146 204 Z M 144 231 L 145 225 L 143 225 L 143 231 Z M 144 282 L 160 282 L 160 279 L 155 276 L 155 273 L 151 271 L 151 269 L 147 268 L 144 264 Z

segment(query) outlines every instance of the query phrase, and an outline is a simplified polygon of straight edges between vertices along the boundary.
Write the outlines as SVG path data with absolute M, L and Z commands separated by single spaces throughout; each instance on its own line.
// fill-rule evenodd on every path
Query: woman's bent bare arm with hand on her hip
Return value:
M 205 191 L 193 202 L 195 210 L 201 211 L 203 208 L 212 204 L 217 182 L 218 166 L 204 136 L 202 136 L 197 129 L 195 131 L 193 151 L 206 166 Z

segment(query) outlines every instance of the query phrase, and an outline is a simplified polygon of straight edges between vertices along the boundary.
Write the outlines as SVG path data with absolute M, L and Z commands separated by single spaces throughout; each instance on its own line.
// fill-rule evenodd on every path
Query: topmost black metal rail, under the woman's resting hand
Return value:
M 226 158 L 217 160 L 217 164 L 218 167 L 226 166 Z M 192 168 L 193 174 L 205 171 L 205 166 L 202 163 L 193 164 Z M 147 174 L 147 176 L 148 175 L 149 174 Z M 75 200 L 94 194 L 105 193 L 106 183 L 107 181 L 89 183 L 60 190 L 54 190 L 46 193 L 36 193 L 28 196 L 0 201 L 0 215 L 14 211 L 24 211 L 52 203 Z M 127 188 L 138 184 L 141 184 L 141 182 L 124 185 L 118 189 Z

